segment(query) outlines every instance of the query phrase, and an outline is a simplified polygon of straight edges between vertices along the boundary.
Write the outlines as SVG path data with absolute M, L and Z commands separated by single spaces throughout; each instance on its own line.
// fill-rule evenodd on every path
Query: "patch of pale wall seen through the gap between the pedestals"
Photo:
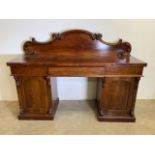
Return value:
M 96 99 L 97 78 L 57 77 L 60 100 Z

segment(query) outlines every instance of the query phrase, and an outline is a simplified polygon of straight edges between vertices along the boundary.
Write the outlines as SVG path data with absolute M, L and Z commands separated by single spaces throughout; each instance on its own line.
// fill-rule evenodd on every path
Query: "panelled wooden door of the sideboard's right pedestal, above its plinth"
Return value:
M 128 114 L 133 106 L 134 78 L 109 77 L 102 83 L 100 107 L 105 114 Z

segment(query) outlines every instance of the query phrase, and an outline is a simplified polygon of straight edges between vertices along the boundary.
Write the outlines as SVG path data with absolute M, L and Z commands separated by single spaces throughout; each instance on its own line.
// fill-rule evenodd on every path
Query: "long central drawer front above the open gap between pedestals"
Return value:
M 104 67 L 50 67 L 48 74 L 51 76 L 103 77 Z

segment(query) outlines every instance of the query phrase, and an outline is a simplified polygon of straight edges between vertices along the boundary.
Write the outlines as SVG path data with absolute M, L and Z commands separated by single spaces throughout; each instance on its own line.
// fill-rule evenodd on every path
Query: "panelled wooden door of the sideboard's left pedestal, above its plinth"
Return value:
M 18 77 L 17 89 L 23 113 L 45 114 L 51 104 L 51 92 L 45 77 Z

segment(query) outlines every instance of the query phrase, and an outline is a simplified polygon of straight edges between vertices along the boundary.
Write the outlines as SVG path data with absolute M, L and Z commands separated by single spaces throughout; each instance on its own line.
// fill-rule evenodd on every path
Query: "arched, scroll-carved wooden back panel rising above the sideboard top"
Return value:
M 70 30 L 63 33 L 53 33 L 48 42 L 38 42 L 35 38 L 25 42 L 23 49 L 26 56 L 62 57 L 62 58 L 106 58 L 111 61 L 127 59 L 130 56 L 131 45 L 122 42 L 103 41 L 102 34 L 85 30 Z

